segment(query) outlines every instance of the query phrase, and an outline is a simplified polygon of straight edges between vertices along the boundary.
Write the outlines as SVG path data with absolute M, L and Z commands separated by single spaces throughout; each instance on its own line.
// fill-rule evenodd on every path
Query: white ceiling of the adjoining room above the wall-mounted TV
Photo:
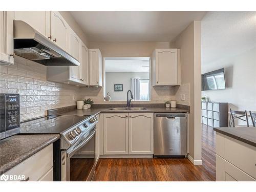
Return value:
M 202 65 L 255 48 L 256 12 L 207 12 L 201 35 Z

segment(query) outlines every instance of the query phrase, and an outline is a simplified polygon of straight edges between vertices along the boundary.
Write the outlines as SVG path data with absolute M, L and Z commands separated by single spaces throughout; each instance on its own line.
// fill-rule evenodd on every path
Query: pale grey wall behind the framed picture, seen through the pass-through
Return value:
M 149 79 L 148 72 L 107 72 L 106 93 L 110 92 L 111 100 L 126 100 L 127 91 L 131 90 L 131 78 Z M 114 91 L 114 84 L 123 84 L 123 91 Z

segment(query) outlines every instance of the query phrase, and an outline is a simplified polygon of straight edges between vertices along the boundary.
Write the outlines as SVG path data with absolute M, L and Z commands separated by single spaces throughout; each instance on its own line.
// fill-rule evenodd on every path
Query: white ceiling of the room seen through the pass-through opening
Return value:
M 105 58 L 105 72 L 149 72 L 149 59 Z

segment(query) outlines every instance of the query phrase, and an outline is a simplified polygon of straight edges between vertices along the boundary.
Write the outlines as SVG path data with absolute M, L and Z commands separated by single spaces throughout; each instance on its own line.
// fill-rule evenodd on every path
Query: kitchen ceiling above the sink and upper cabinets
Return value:
M 204 11 L 71 11 L 89 41 L 172 41 Z

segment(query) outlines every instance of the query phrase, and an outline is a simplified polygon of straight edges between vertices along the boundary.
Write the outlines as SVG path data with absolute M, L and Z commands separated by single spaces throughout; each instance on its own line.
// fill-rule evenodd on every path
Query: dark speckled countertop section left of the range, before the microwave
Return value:
M 0 143 L 0 175 L 58 140 L 58 134 L 15 135 Z

